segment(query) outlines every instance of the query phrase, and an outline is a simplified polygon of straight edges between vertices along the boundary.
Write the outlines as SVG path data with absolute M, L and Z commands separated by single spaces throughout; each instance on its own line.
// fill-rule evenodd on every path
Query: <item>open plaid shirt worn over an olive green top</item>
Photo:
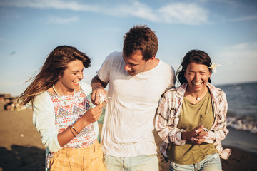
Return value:
M 168 161 L 168 145 L 173 143 L 175 145 L 184 145 L 186 140 L 182 140 L 181 133 L 185 130 L 178 129 L 178 121 L 181 114 L 181 106 L 183 96 L 186 92 L 187 83 L 183 83 L 178 88 L 168 90 L 161 99 L 156 113 L 155 128 L 164 141 L 160 147 L 161 155 Z M 209 133 L 208 138 L 204 140 L 206 143 L 213 143 L 223 159 L 228 159 L 231 154 L 230 149 L 224 149 L 221 146 L 221 140 L 226 138 L 228 130 L 226 129 L 226 113 L 228 110 L 228 103 L 226 95 L 223 90 L 207 83 L 206 86 L 211 92 L 211 102 L 213 105 L 214 123 L 211 130 L 205 131 Z

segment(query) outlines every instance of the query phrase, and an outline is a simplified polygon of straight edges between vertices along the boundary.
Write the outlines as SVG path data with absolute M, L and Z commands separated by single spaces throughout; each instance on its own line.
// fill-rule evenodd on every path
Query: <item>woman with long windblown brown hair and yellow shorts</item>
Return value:
M 96 123 L 103 105 L 91 103 L 91 86 L 81 83 L 91 66 L 85 53 L 58 46 L 21 94 L 32 103 L 33 123 L 46 146 L 46 170 L 105 170 Z

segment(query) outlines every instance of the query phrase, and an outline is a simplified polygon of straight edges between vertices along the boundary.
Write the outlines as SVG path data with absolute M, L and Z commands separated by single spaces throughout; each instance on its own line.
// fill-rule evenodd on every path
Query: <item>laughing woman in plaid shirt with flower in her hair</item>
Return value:
M 228 159 L 231 150 L 221 147 L 228 134 L 228 103 L 225 93 L 211 85 L 217 65 L 204 51 L 191 50 L 181 66 L 181 86 L 163 95 L 156 113 L 161 154 L 171 161 L 170 170 L 222 170 L 220 157 Z

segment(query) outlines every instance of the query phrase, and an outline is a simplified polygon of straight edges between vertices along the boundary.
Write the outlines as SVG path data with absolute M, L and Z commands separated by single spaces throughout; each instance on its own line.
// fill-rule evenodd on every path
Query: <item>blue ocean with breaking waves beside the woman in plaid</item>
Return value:
M 257 133 L 257 82 L 216 86 L 228 100 L 228 128 Z

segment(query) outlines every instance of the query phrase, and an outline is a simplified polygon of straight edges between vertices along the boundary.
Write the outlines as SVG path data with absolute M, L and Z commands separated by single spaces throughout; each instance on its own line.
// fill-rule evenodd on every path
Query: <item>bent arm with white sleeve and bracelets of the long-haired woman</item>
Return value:
M 48 100 L 47 95 L 42 95 L 34 100 L 33 122 L 36 129 L 41 134 L 43 144 L 48 147 L 51 152 L 57 152 L 78 135 L 86 125 L 96 122 L 101 115 L 102 107 L 103 105 L 98 105 L 86 111 L 84 116 L 73 124 L 74 128 L 68 127 L 66 130 L 59 133 L 55 125 L 54 105 L 51 99 Z

